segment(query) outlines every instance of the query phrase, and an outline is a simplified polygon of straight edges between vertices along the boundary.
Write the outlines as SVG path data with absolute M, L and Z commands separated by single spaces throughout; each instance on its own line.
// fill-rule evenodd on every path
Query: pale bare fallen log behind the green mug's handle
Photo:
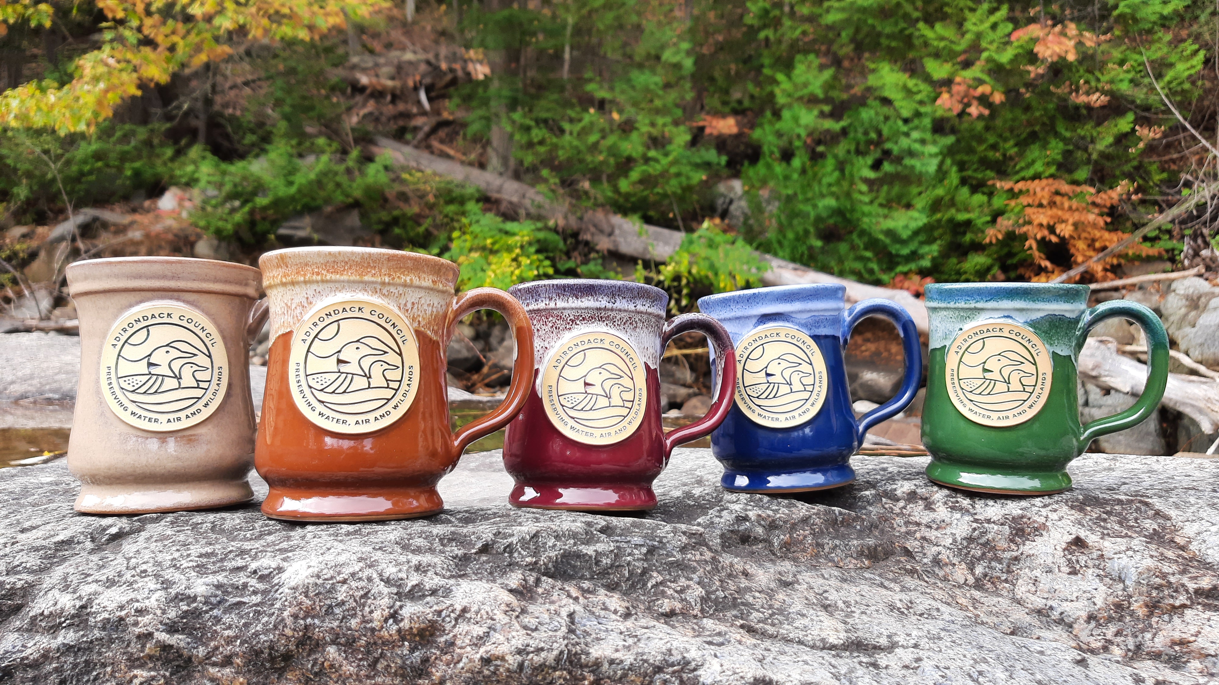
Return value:
M 1113 339 L 1089 338 L 1079 355 L 1079 377 L 1097 388 L 1140 395 L 1147 383 L 1147 364 L 1119 355 Z M 1219 431 L 1217 380 L 1170 373 L 1160 403 L 1196 421 L 1207 435 Z

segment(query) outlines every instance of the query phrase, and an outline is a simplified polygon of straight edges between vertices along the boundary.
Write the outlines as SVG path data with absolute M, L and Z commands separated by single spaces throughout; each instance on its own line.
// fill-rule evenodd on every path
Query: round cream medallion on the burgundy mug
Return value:
M 551 352 L 541 374 L 541 401 L 561 433 L 586 445 L 611 445 L 642 422 L 647 373 L 622 338 L 580 333 Z

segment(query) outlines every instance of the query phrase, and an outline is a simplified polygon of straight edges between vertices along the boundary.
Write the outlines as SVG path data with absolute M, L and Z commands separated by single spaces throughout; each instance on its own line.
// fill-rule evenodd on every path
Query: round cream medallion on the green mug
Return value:
M 945 353 L 948 397 L 965 418 L 983 425 L 1015 425 L 1037 416 L 1052 379 L 1046 344 L 1014 323 L 972 325 Z

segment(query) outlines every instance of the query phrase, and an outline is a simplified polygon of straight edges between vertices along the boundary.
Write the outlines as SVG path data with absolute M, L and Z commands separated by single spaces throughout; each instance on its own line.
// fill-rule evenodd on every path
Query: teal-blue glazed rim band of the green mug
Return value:
M 931 283 L 924 289 L 929 310 L 1087 308 L 1091 289 L 1069 283 Z

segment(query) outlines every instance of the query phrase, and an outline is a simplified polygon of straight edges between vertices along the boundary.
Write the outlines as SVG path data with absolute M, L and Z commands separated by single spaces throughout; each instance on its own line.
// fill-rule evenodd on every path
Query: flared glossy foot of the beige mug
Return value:
M 216 509 L 252 499 L 254 490 L 245 479 L 140 485 L 85 483 L 72 508 L 90 514 L 145 514 Z

